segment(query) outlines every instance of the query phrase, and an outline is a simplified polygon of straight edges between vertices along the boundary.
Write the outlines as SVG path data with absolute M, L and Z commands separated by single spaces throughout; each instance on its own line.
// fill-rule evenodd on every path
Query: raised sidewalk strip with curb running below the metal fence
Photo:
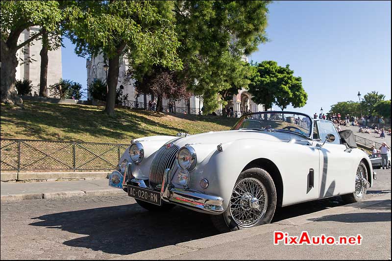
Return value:
M 98 196 L 125 194 L 123 190 L 110 188 L 108 179 L 47 181 L 34 183 L 1 183 L 1 202 L 28 199 L 65 198 L 73 196 Z

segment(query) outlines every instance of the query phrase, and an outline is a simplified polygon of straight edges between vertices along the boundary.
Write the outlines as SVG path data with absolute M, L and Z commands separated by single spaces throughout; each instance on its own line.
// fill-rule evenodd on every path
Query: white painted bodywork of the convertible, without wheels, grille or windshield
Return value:
M 312 137 L 312 136 L 311 136 Z M 340 137 L 336 137 L 340 139 Z M 189 188 L 223 198 L 226 209 L 239 174 L 250 162 L 267 159 L 277 169 L 283 183 L 282 206 L 293 205 L 324 197 L 355 191 L 355 175 L 361 161 L 368 164 L 368 180 L 372 185 L 372 167 L 368 155 L 358 149 L 347 150 L 343 144 L 305 139 L 287 132 L 261 132 L 256 130 L 230 130 L 209 132 L 188 137 L 152 136 L 136 139 L 145 149 L 140 164 L 132 165 L 132 175 L 147 180 L 155 152 L 166 143 L 178 147 L 192 146 L 197 154 L 195 169 L 190 171 Z M 221 144 L 222 151 L 217 150 Z M 129 148 L 121 157 L 131 162 Z M 314 169 L 314 187 L 309 188 L 309 172 Z M 172 184 L 177 188 L 176 173 L 172 168 Z M 207 189 L 199 186 L 201 179 L 209 181 Z

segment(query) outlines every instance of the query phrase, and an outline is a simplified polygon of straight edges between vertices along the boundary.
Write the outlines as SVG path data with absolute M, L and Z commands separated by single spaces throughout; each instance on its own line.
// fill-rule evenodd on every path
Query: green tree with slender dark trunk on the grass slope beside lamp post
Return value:
M 173 24 L 148 1 L 77 1 L 79 19 L 67 29 L 80 56 L 102 52 L 108 59 L 108 94 L 105 112 L 114 116 L 119 64 L 122 55 L 144 57 L 148 64 L 181 69 L 179 43 Z

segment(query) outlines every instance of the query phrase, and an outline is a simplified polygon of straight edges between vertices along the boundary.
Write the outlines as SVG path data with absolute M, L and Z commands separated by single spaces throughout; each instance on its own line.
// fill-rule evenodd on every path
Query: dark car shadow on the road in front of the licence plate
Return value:
M 219 234 L 206 214 L 175 207 L 148 212 L 138 204 L 62 212 L 32 218 L 32 226 L 61 229 L 80 237 L 63 244 L 127 255 Z M 81 236 L 87 235 L 87 236 Z

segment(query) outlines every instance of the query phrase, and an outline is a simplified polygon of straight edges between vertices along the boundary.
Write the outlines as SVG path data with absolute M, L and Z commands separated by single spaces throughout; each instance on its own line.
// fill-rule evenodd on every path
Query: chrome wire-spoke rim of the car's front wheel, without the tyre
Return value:
M 245 178 L 234 187 L 229 209 L 238 225 L 251 227 L 263 218 L 267 206 L 267 190 L 263 183 L 256 178 Z

